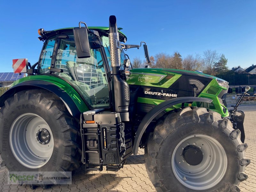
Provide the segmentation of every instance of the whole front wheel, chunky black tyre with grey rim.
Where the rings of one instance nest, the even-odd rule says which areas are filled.
[[[157,191],[240,191],[247,144],[220,114],[184,108],[168,114],[149,136],[146,169]]]

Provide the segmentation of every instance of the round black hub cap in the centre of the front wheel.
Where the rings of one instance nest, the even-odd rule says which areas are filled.
[[[203,152],[194,145],[188,145],[182,151],[182,156],[190,165],[198,165],[203,161]]]

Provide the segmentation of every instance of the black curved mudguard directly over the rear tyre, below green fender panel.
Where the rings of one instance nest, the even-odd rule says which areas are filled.
[[[45,89],[56,94],[63,101],[69,113],[78,119],[80,118],[80,114],[82,111],[80,111],[77,106],[79,102],[74,101],[74,98],[73,99],[71,98],[72,94],[65,92],[56,84],[53,84],[47,81],[41,81],[41,80],[25,81],[25,82],[14,85],[0,97],[0,107],[3,107],[4,101],[7,98],[12,97],[15,93],[23,90],[30,90],[35,88]],[[88,108],[84,108],[84,111],[86,110],[88,110]]]

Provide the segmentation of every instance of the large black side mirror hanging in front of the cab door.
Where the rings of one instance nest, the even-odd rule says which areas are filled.
[[[84,22],[79,22],[79,27],[73,29],[76,44],[76,54],[78,58],[88,58],[91,57],[87,34],[88,28],[85,23],[85,27],[81,27],[80,23]]]

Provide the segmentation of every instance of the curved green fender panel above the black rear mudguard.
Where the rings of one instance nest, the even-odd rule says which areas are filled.
[[[74,101],[74,103],[76,104],[76,107],[79,109],[81,113],[89,110],[88,106],[86,105],[84,100],[81,98],[81,96],[76,92],[76,90],[66,81],[64,81],[63,79],[57,76],[53,76],[53,75],[27,76],[13,82],[11,87],[25,81],[46,81],[46,82],[55,84],[60,89],[68,93],[68,95]]]

